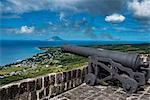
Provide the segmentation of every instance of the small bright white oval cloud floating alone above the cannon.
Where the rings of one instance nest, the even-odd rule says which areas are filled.
[[[125,20],[125,17],[120,14],[112,14],[110,16],[105,17],[106,22],[112,22],[112,23],[120,23]]]

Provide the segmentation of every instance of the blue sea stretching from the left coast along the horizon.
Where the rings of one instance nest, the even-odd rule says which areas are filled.
[[[100,45],[100,44],[141,44],[141,41],[38,41],[38,40],[0,40],[0,66],[12,64],[44,52],[38,47],[62,45]]]

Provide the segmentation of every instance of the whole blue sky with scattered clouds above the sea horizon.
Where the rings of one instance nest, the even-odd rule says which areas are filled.
[[[1,0],[1,40],[150,42],[150,0]]]

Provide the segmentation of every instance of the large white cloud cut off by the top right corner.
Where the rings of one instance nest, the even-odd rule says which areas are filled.
[[[133,11],[136,17],[150,18],[150,0],[133,0],[128,3],[128,8]]]

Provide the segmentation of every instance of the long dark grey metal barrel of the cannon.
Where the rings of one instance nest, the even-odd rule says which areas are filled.
[[[111,58],[113,61],[118,62],[133,70],[139,69],[142,66],[142,61],[139,54],[129,54],[118,51],[94,49],[89,47],[69,46],[64,45],[61,47],[62,52],[73,53],[84,57],[99,56]]]

